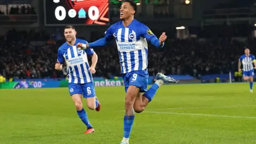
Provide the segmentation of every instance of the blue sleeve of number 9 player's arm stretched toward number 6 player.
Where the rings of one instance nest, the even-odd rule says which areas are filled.
[[[114,39],[114,26],[110,26],[106,31],[105,31],[105,37],[99,39],[98,41],[95,41],[93,43],[89,43],[90,47],[98,47],[98,46],[105,46],[108,45],[113,39]]]

